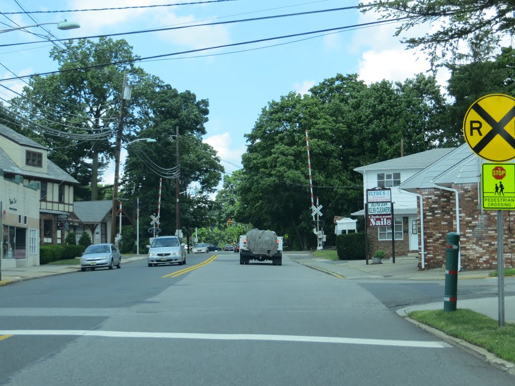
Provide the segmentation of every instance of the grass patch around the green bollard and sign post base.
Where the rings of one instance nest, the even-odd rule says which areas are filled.
[[[408,313],[409,317],[445,334],[483,347],[497,357],[515,363],[515,324],[499,322],[479,312],[458,309],[453,312],[443,310],[422,310]]]

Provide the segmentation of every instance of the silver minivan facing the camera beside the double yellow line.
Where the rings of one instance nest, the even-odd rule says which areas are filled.
[[[149,267],[160,264],[186,264],[186,245],[177,236],[156,237],[147,248]]]

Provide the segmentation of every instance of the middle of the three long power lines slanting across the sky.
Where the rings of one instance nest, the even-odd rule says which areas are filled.
[[[297,13],[286,13],[286,14],[281,14],[281,15],[271,15],[271,16],[263,16],[263,17],[252,17],[250,19],[229,20],[229,21],[225,21],[225,22],[183,25],[183,26],[178,26],[178,27],[146,29],[146,30],[131,31],[131,32],[118,32],[118,33],[110,33],[110,34],[105,34],[105,35],[85,36],[85,37],[80,37],[80,38],[75,38],[75,39],[96,39],[96,38],[102,38],[102,37],[132,35],[132,34],[136,34],[136,33],[172,31],[172,30],[176,30],[176,29],[193,28],[193,27],[207,27],[207,26],[221,25],[221,24],[246,23],[246,22],[255,22],[255,21],[260,21],[260,20],[278,19],[279,17],[302,16],[302,15],[308,15],[308,14],[313,14],[313,13],[335,12],[335,11],[349,10],[349,9],[355,9],[355,8],[357,8],[357,6],[321,9],[321,10],[316,10],[316,11],[306,11],[306,12],[297,12]],[[49,40],[49,41],[50,42],[63,42],[63,41],[68,41],[68,40],[70,40],[70,39],[56,39],[56,40]],[[7,46],[11,46],[11,45],[34,44],[34,43],[41,43],[41,41],[3,44],[3,45],[0,45],[0,47],[7,47]]]

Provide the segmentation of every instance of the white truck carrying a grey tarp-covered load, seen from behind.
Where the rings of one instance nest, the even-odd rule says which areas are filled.
[[[239,264],[250,260],[272,260],[274,266],[283,262],[283,238],[272,231],[253,229],[239,236]]]

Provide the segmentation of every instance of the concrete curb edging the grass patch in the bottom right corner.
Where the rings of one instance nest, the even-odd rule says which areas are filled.
[[[505,373],[515,377],[515,363],[509,362],[507,360],[501,359],[497,357],[495,354],[490,353],[483,347],[476,346],[472,343],[466,342],[462,339],[452,337],[450,335],[445,334],[445,332],[440,331],[434,327],[428,326],[426,324],[420,323],[415,319],[411,319],[406,314],[406,308],[402,308],[396,311],[396,313],[403,319],[407,320],[410,323],[415,324],[417,327],[423,329],[424,331],[429,332],[430,334],[436,336],[437,338],[452,344],[455,347],[458,347],[465,352],[473,355],[474,357],[489,363],[490,365],[496,367],[499,370],[504,371]]]

